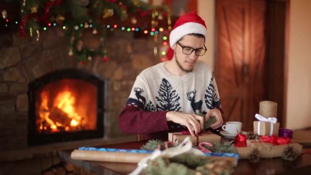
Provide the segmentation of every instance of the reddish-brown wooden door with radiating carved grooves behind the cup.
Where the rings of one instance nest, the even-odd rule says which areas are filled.
[[[227,121],[253,130],[265,99],[265,1],[216,1],[215,79]]]

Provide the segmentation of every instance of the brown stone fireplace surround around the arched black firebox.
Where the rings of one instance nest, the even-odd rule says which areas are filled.
[[[56,29],[42,31],[39,41],[36,41],[36,37],[20,38],[18,31],[0,35],[0,153],[32,150],[27,143],[28,83],[58,69],[82,69],[105,78],[107,111],[104,119],[105,136],[100,139],[100,143],[128,138],[118,128],[118,116],[136,76],[143,69],[160,62],[159,58],[153,56],[155,43],[152,37],[134,38],[131,32],[108,32],[108,61],[93,58],[81,65],[75,56],[68,55],[70,38],[60,36]],[[81,144],[99,143],[93,139]],[[61,149],[62,146],[46,147]],[[63,147],[71,146],[63,144]]]

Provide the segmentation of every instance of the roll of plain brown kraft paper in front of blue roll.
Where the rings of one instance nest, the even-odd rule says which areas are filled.
[[[134,152],[109,152],[109,151],[92,151],[75,149],[71,153],[72,159],[99,161],[99,162],[122,162],[138,163],[150,154]]]

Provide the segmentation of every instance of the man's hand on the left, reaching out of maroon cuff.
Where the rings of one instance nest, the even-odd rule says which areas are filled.
[[[166,120],[187,126],[192,136],[199,134],[204,127],[204,118],[195,114],[169,111],[166,113]]]

